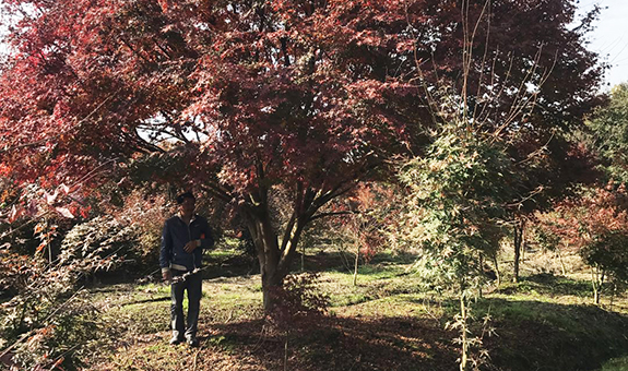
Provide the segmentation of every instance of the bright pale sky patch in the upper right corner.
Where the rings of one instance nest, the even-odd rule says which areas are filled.
[[[628,0],[580,0],[580,12],[602,7],[595,29],[589,36],[588,49],[597,52],[611,64],[606,72],[607,87],[628,83]]]

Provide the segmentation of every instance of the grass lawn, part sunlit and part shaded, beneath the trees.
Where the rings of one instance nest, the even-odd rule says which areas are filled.
[[[260,276],[229,249],[208,256],[200,349],[167,345],[168,286],[119,284],[91,292],[106,336],[84,359],[85,369],[283,369],[285,333],[263,320]],[[458,368],[457,334],[443,326],[458,309],[454,298],[423,290],[408,271],[408,255],[375,256],[360,266],[356,286],[343,259],[307,256],[306,266],[319,267],[318,287],[331,304],[328,315],[289,334],[289,370]],[[590,296],[586,282],[548,274],[486,292],[472,304],[472,335],[481,333],[486,313],[498,335],[483,339],[490,355],[486,370],[625,370],[628,300],[620,298],[623,306],[611,312],[591,306]]]

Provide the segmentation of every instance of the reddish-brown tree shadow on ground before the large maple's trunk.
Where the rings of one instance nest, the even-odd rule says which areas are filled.
[[[283,369],[285,333],[262,320],[217,324],[210,344],[258,358],[268,370]],[[408,318],[324,318],[288,338],[288,369],[454,370],[451,334],[434,321]]]

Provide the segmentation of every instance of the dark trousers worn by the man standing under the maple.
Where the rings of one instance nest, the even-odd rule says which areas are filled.
[[[170,285],[170,319],[173,336],[182,339],[197,336],[199,311],[201,307],[202,277],[197,272],[185,276],[186,272],[173,270],[173,284]],[[185,278],[182,278],[185,277]],[[188,325],[185,326],[183,291],[188,291]]]

